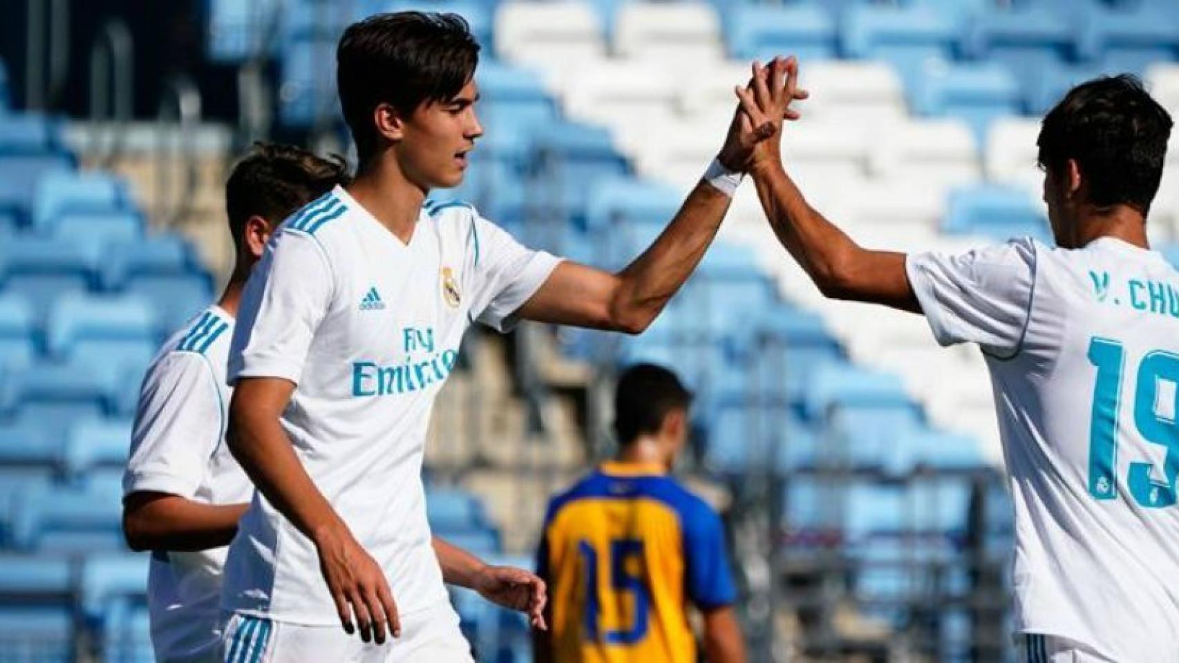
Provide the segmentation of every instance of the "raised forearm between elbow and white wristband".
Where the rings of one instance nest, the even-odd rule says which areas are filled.
[[[732,199],[699,181],[659,238],[621,272],[611,317],[626,331],[643,331],[700,263]]]

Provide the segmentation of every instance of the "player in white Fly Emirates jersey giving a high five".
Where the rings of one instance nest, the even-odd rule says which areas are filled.
[[[540,625],[542,583],[488,589],[477,559],[430,545],[422,446],[462,333],[518,319],[643,331],[772,130],[735,119],[704,180],[619,273],[561,261],[469,205],[423,206],[461,183],[482,133],[477,52],[461,18],[414,12],[340,42],[356,179],[271,238],[230,352],[228,442],[258,491],[226,563],[226,661],[469,661],[443,582],[513,591]]]

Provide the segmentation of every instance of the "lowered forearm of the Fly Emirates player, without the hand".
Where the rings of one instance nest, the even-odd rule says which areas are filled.
[[[258,491],[312,541],[347,531],[303,469],[278,418],[237,410],[231,407],[226,443]]]

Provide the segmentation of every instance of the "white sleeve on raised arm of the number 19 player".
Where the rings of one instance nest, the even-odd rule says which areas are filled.
[[[1030,316],[1035,264],[1036,246],[1027,238],[957,256],[913,254],[905,271],[937,343],[977,343],[1010,358]]]

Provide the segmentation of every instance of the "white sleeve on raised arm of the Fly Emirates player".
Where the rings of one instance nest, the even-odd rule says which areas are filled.
[[[470,316],[498,331],[511,329],[513,313],[540,290],[560,259],[523,247],[495,224],[474,216],[468,247],[474,259]]]

